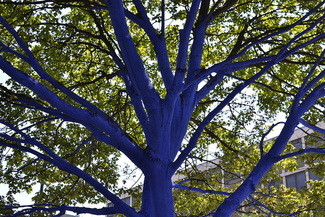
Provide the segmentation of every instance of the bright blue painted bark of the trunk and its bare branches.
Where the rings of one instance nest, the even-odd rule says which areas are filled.
[[[299,19],[297,22],[279,30],[276,33],[270,34],[254,43],[247,45],[238,54],[203,70],[201,69],[201,62],[204,51],[203,45],[206,30],[208,24],[212,22],[211,19],[216,16],[216,14],[204,13],[203,11],[206,5],[201,4],[201,10],[199,10],[201,1],[193,1],[184,28],[179,32],[180,40],[175,75],[173,75],[171,70],[165,38],[160,37],[156,33],[156,30],[153,28],[148,16],[146,15],[141,1],[134,2],[138,15],[126,11],[123,8],[122,1],[105,1],[107,5],[105,10],[107,10],[110,14],[112,25],[115,30],[115,37],[124,61],[123,64],[116,64],[121,68],[121,75],[125,82],[128,96],[131,97],[131,103],[134,106],[137,117],[144,130],[147,141],[146,149],[141,149],[137,144],[131,141],[126,133],[124,133],[117,123],[115,123],[105,112],[85,99],[79,97],[73,91],[64,87],[53,77],[47,74],[34,56],[32,56],[32,53],[28,50],[28,47],[19,38],[14,28],[12,28],[4,19],[0,17],[0,22],[13,35],[16,42],[19,44],[20,48],[24,50],[27,56],[24,56],[17,51],[4,46],[4,43],[1,44],[1,51],[10,52],[16,55],[18,58],[25,60],[27,64],[34,68],[42,79],[45,79],[52,84],[54,88],[60,90],[63,94],[70,97],[70,99],[87,109],[81,109],[69,104],[66,100],[60,98],[53,91],[39,83],[34,78],[31,78],[26,73],[16,69],[12,64],[8,63],[4,57],[1,56],[0,69],[20,85],[29,88],[35,94],[40,96],[40,98],[51,105],[53,109],[42,107],[42,105],[34,101],[23,100],[20,102],[35,108],[37,107],[40,111],[46,112],[49,115],[53,115],[57,118],[80,123],[89,129],[96,139],[112,145],[123,152],[143,171],[145,175],[142,209],[140,212],[137,212],[134,208],[123,203],[116,195],[104,188],[103,184],[95,180],[89,174],[77,168],[70,162],[60,158],[44,144],[41,144],[39,141],[36,141],[36,139],[24,134],[18,128],[0,120],[0,123],[6,125],[17,134],[21,135],[23,139],[13,138],[4,133],[0,133],[0,137],[4,138],[5,140],[11,140],[21,144],[33,144],[40,150],[43,150],[47,156],[44,156],[40,151],[25,147],[23,145],[13,145],[5,141],[0,141],[1,145],[29,152],[37,156],[39,159],[47,161],[63,171],[77,175],[89,183],[94,189],[96,189],[96,191],[100,192],[108,200],[114,203],[114,207],[103,209],[56,206],[51,209],[43,208],[44,210],[57,210],[61,211],[61,213],[64,213],[65,211],[76,211],[78,213],[92,214],[122,213],[126,216],[173,217],[175,216],[175,210],[172,189],[179,188],[189,191],[198,191],[201,193],[223,194],[229,196],[219,207],[215,207],[216,212],[213,216],[230,216],[244,200],[250,197],[250,195],[255,191],[258,181],[262,179],[262,177],[276,162],[308,152],[316,152],[321,154],[325,153],[325,151],[321,149],[309,148],[281,156],[281,152],[284,150],[298,124],[300,122],[307,123],[304,122],[301,117],[311,106],[316,103],[319,98],[325,96],[324,83],[321,83],[312,89],[312,87],[325,76],[325,71],[322,71],[314,78],[314,80],[309,80],[314,72],[313,69],[320,63],[320,60],[324,56],[324,51],[321,54],[321,57],[315,63],[314,68],[310,71],[310,74],[303,83],[303,86],[300,87],[300,90],[293,101],[290,114],[284,124],[281,134],[276,139],[270,151],[267,153],[264,153],[263,143],[261,143],[261,159],[234,193],[217,191],[208,192],[207,190],[184,187],[180,184],[173,185],[171,181],[172,175],[176,172],[176,170],[179,169],[179,167],[188,157],[189,153],[196,147],[203,131],[213,120],[213,118],[215,118],[216,115],[218,115],[222,109],[225,108],[225,106],[232,102],[247,86],[264,76],[272,67],[280,63],[280,61],[295,53],[300,48],[306,47],[307,45],[312,44],[314,41],[323,38],[325,34],[320,33],[313,39],[288,51],[288,48],[293,45],[297,39],[308,33],[318,23],[323,21],[325,19],[325,15],[320,17],[313,25],[306,28],[306,30],[290,40],[275,55],[241,61],[240,63],[233,62],[233,60],[242,57],[252,46],[262,43],[272,37],[278,36],[279,34],[301,24],[309,15],[314,13],[322,4],[324,4],[324,2],[322,2],[315,9],[311,10],[306,14],[306,16]],[[235,4],[236,1],[227,2],[234,2]],[[229,4],[227,3],[224,9],[232,6]],[[198,12],[198,19],[196,20],[195,18]],[[153,49],[157,56],[159,70],[164,80],[167,92],[164,99],[158,94],[158,91],[154,88],[154,85],[151,83],[146,73],[143,61],[137,51],[131,34],[129,33],[125,17],[133,20],[140,27],[142,27],[153,44]],[[193,42],[188,54],[189,39],[192,30]],[[238,84],[228,96],[225,96],[217,106],[211,109],[209,114],[205,116],[205,118],[200,122],[198,128],[194,131],[193,135],[188,141],[188,144],[186,144],[186,147],[177,156],[184,136],[186,135],[191,115],[198,103],[205,96],[207,96],[209,92],[225,78],[226,75],[241,69],[245,69],[249,65],[253,64],[261,64],[263,67],[261,67],[261,70],[256,72],[255,75]],[[199,83],[212,73],[215,73],[216,75],[214,75],[214,77],[198,91]],[[324,133],[324,131],[321,129],[314,128],[314,130],[319,130],[321,133]],[[35,210],[40,209],[42,208],[35,205],[31,210],[34,212]]]

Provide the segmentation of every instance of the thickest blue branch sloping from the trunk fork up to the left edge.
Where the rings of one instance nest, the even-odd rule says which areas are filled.
[[[24,85],[30,90],[34,91],[40,96],[42,100],[48,102],[50,105],[56,108],[58,111],[56,116],[59,117],[60,114],[70,116],[76,122],[83,122],[85,126],[88,127],[88,129],[89,127],[93,126],[93,129],[89,129],[90,131],[94,129],[100,129],[100,131],[108,134],[111,139],[115,141],[114,143],[118,144],[118,149],[125,153],[127,157],[133,159],[135,163],[140,163],[141,158],[139,158],[139,156],[143,154],[141,148],[138,145],[133,144],[112,119],[103,119],[103,117],[98,115],[98,113],[71,106],[66,101],[62,100],[57,95],[55,95],[48,88],[40,84],[37,80],[32,79],[27,74],[15,69],[5,59],[3,59],[3,57],[0,57],[0,63],[0,69],[6,72],[10,77],[12,77],[21,85]],[[30,101],[28,101],[28,103],[30,103]],[[39,107],[40,109],[42,108],[42,106],[40,106],[39,104],[35,104],[36,102],[32,103],[34,103],[36,107]],[[50,114],[51,113],[53,114],[53,110],[50,110]],[[134,153],[136,152],[138,154],[135,155]]]

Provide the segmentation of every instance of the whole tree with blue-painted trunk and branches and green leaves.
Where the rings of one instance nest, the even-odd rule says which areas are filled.
[[[316,127],[325,96],[324,3],[1,2],[0,69],[11,78],[0,86],[7,162],[0,181],[10,188],[2,212],[175,216],[173,188],[216,195],[202,216],[231,216],[245,201],[266,214],[322,212],[275,211],[254,193],[275,164],[325,153],[321,144],[288,145],[299,123],[324,133]],[[266,145],[280,111],[281,133]],[[220,168],[241,171],[241,184],[234,191],[173,184],[209,145],[218,147]],[[120,152],[144,174],[140,210],[113,194]],[[46,188],[34,205],[19,206],[14,195],[35,183]],[[105,200],[114,206],[74,206]]]

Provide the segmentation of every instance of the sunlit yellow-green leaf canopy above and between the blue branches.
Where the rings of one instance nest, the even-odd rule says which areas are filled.
[[[161,16],[161,1],[142,1],[154,29],[154,32],[150,33],[147,31],[149,27],[143,22],[146,17],[137,10],[137,2],[123,1],[128,29],[143,61],[146,74],[161,99],[165,99],[169,89],[164,82],[164,74],[170,69],[175,75],[178,70],[180,32],[190,13],[192,1],[166,1],[164,22]],[[182,147],[187,145],[187,141],[209,112],[239,83],[255,75],[268,63],[270,57],[276,55],[291,39],[323,15],[322,8],[299,25],[284,31],[318,4],[319,1],[280,0],[201,2],[196,22],[191,28],[186,52],[190,53],[195,46],[195,37],[199,37],[196,34],[204,26],[207,29],[203,36],[202,59],[199,61],[201,73],[232,57],[234,59],[231,63],[242,63],[230,69],[232,72],[225,70],[223,74],[216,68],[204,79],[189,85],[189,88],[196,90],[196,97],[199,100],[198,104],[193,106]],[[137,118],[125,85],[127,81],[122,77],[122,72],[128,70],[125,59],[103,1],[8,1],[0,3],[0,11],[1,16],[17,31],[40,66],[50,76],[106,113],[134,144],[142,149],[147,147],[148,137]],[[285,53],[295,51],[298,46],[323,33],[324,24],[324,21],[321,21],[291,44]],[[279,31],[282,33],[276,35],[275,33]],[[272,34],[273,36],[267,40],[250,46],[244,55],[236,57],[248,45]],[[154,37],[165,38],[169,66],[159,65],[157,50],[160,47],[156,47]],[[2,47],[8,46],[26,55],[4,26],[0,26],[0,40],[4,43]],[[268,128],[268,123],[272,122],[279,112],[289,113],[294,96],[307,76],[306,72],[311,70],[322,52],[323,43],[324,37],[320,37],[310,45],[296,50],[237,95],[212,119],[191,154],[202,158],[207,155],[208,145],[217,145],[218,152],[215,153],[215,157],[222,160],[223,170],[236,174],[245,168],[241,172],[248,174],[258,160],[254,157],[258,153],[256,145]],[[89,109],[55,88],[15,53],[1,51],[3,58],[37,79],[70,105]],[[187,56],[186,64],[189,64],[190,57]],[[246,60],[252,59],[263,60],[246,63]],[[322,59],[311,79],[323,70],[324,64]],[[187,71],[184,82],[193,77],[192,72],[188,70],[189,66],[185,68]],[[224,76],[219,82],[215,82],[218,79],[216,73]],[[322,82],[323,79],[320,79],[317,84]],[[205,84],[211,84],[213,88],[209,85],[204,86]],[[115,163],[120,153],[115,148],[96,139],[85,126],[47,114],[47,109],[51,111],[56,109],[14,80],[7,81],[6,86],[0,86],[1,120],[10,122],[20,129],[25,128],[23,130],[25,133],[100,180],[106,188],[116,188],[118,174]],[[206,88],[210,88],[209,91]],[[313,88],[310,89],[312,90]],[[184,90],[180,96],[185,96],[186,91],[189,90]],[[319,99],[319,105],[308,110],[304,116],[307,120],[316,123],[323,119],[323,100]],[[33,104],[30,104],[31,101]],[[36,109],[38,106],[35,105],[41,105],[42,110]],[[3,128],[3,132],[14,135],[8,128]],[[34,198],[37,203],[41,201],[83,203],[85,200],[97,203],[104,200],[77,176],[59,171],[56,167],[21,150],[8,151],[3,148],[1,157],[7,163],[3,165],[4,172],[0,181],[10,183],[11,189],[15,189],[7,197],[10,200],[12,194],[23,190],[30,191],[31,185],[36,183],[46,185],[44,192],[38,193]],[[236,164],[230,165],[229,162],[234,158]],[[30,165],[24,167],[26,164]],[[13,173],[15,170],[19,170],[18,173]],[[270,176],[274,178],[275,171],[272,170],[262,181],[266,182]],[[217,178],[210,181],[216,182]],[[58,193],[54,195],[52,192]],[[184,195],[183,199],[192,197],[186,193]],[[213,200],[219,202],[223,197],[214,197]],[[75,200],[71,201],[71,198]]]

